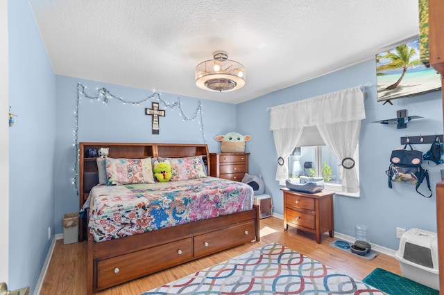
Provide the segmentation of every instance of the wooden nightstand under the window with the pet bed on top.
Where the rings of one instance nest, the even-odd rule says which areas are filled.
[[[321,193],[307,194],[281,188],[284,193],[284,230],[289,225],[302,231],[316,233],[316,242],[321,244],[321,235],[328,231],[333,238],[333,195],[323,190]]]

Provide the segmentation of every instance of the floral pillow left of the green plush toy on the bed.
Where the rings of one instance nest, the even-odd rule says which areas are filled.
[[[105,158],[108,186],[117,184],[153,184],[151,158],[113,159]]]

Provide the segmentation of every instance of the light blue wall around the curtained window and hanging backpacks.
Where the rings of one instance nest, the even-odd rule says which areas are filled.
[[[237,129],[240,133],[253,135],[253,140],[247,143],[247,150],[251,153],[250,174],[262,173],[266,191],[273,197],[274,212],[283,214],[281,186],[275,181],[278,156],[273,134],[268,130],[270,112],[266,111],[267,107],[367,83],[373,86],[366,90],[366,119],[361,122],[359,137],[361,197],[334,196],[334,231],[354,236],[355,225],[365,224],[370,242],[398,249],[397,226],[436,231],[436,198],[435,193],[430,199],[418,195],[415,187],[409,184],[393,184],[393,189],[388,188],[385,170],[389,165],[391,150],[401,146],[400,137],[443,133],[441,91],[392,100],[393,105],[382,105],[382,102],[377,102],[375,62],[371,59],[237,105]],[[407,129],[372,123],[396,118],[398,109],[407,109],[409,115],[424,118],[412,120]],[[425,152],[430,144],[413,147]],[[441,181],[440,169],[444,169],[444,166],[429,167],[427,161],[423,166],[429,170],[434,192],[436,182]],[[425,184],[422,186],[425,188]]]

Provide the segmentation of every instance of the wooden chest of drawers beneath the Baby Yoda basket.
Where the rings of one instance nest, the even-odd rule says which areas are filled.
[[[210,153],[210,176],[242,181],[248,173],[248,152]]]

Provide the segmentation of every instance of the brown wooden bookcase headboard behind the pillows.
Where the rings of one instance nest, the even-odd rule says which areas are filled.
[[[181,158],[203,156],[210,171],[210,154],[205,144],[187,143],[80,143],[79,145],[79,199],[80,208],[83,207],[92,186],[99,184],[99,172],[96,158],[87,156],[88,150],[109,147],[110,158],[143,159],[148,157]]]

